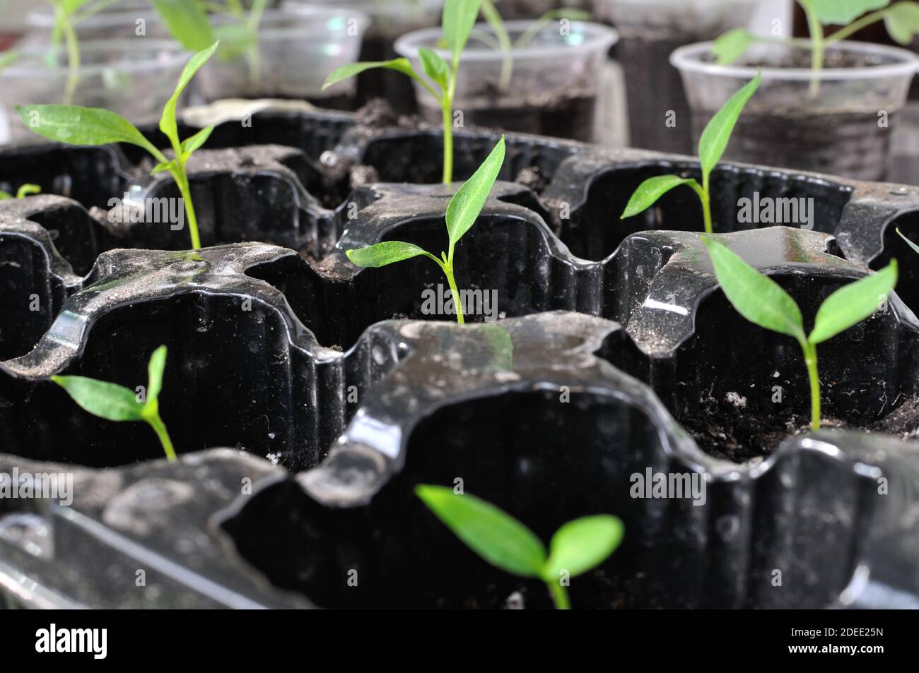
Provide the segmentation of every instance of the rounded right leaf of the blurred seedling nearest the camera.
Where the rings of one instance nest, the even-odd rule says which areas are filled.
[[[562,571],[574,578],[599,566],[616,551],[623,533],[622,522],[608,514],[585,516],[565,523],[552,535],[542,580],[557,582]]]

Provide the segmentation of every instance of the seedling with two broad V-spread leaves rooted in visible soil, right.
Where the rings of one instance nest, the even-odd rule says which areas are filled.
[[[766,330],[794,337],[804,353],[811,381],[811,428],[820,429],[820,378],[817,344],[832,339],[867,319],[883,306],[897,283],[897,261],[855,283],[840,287],[817,309],[813,330],[804,333],[800,308],[778,284],[760,274],[723,243],[708,236],[702,241],[725,297],[745,319]]]

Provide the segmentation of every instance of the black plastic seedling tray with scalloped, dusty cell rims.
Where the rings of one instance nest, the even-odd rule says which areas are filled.
[[[346,259],[446,236],[437,134],[363,121],[222,124],[189,163],[199,252],[187,231],[109,222],[129,190],[177,196],[132,149],[0,151],[0,189],[43,191],[0,202],[0,473],[74,475],[69,507],[0,499],[8,602],[548,607],[412,492],[460,478],[544,539],[584,514],[625,522],[574,607],[919,606],[919,262],[894,233],[915,235],[919,189],[713,175],[716,230],[806,322],[900,260],[887,308],[822,344],[829,427],[811,434],[800,349],[720,293],[693,195],[618,219],[643,179],[696,163],[508,136],[505,182],[457,253],[459,285],[496,290],[500,320],[459,327],[419,310],[433,264]],[[457,179],[495,140],[459,134]],[[754,192],[812,198],[813,229],[737,224]],[[161,343],[176,464],[48,380],[133,388]],[[646,470],[700,475],[704,502],[633,497]]]

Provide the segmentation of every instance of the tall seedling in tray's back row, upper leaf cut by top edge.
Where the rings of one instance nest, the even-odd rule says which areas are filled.
[[[418,50],[425,74],[434,82],[432,86],[425,80],[421,73],[416,73],[412,62],[408,59],[393,59],[392,61],[358,62],[350,63],[335,70],[323,84],[323,91],[333,84],[354,77],[359,73],[372,68],[389,68],[399,73],[407,74],[421,84],[425,91],[433,95],[440,104],[444,127],[444,171],[443,182],[453,182],[453,97],[456,95],[457,73],[459,72],[459,58],[466,47],[469,34],[479,16],[482,0],[447,0],[444,4],[444,13],[441,19],[441,28],[444,32],[444,43],[450,51],[450,62],[447,63],[437,51],[422,47]]]

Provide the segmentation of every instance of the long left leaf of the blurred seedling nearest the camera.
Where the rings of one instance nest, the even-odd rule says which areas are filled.
[[[546,548],[527,526],[491,503],[452,488],[419,484],[415,495],[476,554],[493,566],[539,578]]]

